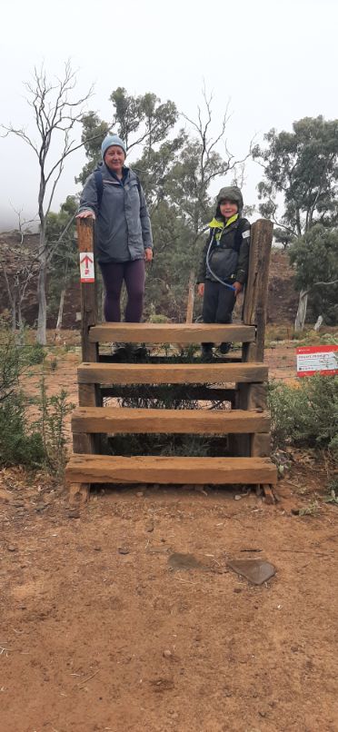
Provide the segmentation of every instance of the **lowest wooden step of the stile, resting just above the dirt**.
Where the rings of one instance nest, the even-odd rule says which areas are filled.
[[[68,483],[236,484],[275,483],[268,458],[164,458],[72,455]]]

